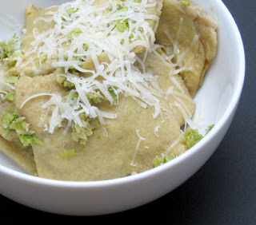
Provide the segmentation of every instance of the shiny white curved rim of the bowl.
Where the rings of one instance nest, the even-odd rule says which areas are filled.
[[[223,14],[226,14],[226,17],[229,20],[230,26],[232,26],[232,30],[234,31],[236,41],[238,43],[238,52],[239,54],[239,65],[238,65],[238,81],[237,88],[234,90],[234,94],[231,97],[229,105],[226,107],[225,112],[219,118],[218,123],[214,125],[211,132],[207,134],[198,144],[194,147],[190,148],[188,151],[182,153],[182,155],[178,156],[174,160],[167,162],[166,164],[162,164],[157,168],[151,168],[145,172],[141,172],[138,174],[134,174],[132,176],[126,176],[121,178],[115,178],[111,180],[94,180],[94,181],[69,181],[69,180],[50,180],[38,176],[33,176],[30,174],[26,174],[24,172],[18,172],[11,168],[6,168],[0,164],[0,174],[5,174],[6,176],[10,176],[13,179],[26,181],[27,183],[39,184],[49,187],[58,187],[58,188],[101,188],[101,187],[110,187],[116,184],[125,184],[138,180],[144,180],[149,176],[154,176],[158,174],[158,172],[165,171],[168,168],[172,168],[175,165],[179,164],[183,160],[188,159],[195,152],[198,152],[203,145],[210,142],[210,140],[218,134],[218,132],[222,129],[223,125],[226,124],[226,121],[229,120],[232,113],[234,113],[235,109],[238,106],[238,102],[240,100],[242,94],[242,88],[244,85],[245,75],[246,75],[246,56],[245,49],[242,41],[242,36],[238,29],[238,25],[235,22],[232,14],[227,9],[226,5],[222,2],[222,0],[218,0],[216,5],[222,10]]]

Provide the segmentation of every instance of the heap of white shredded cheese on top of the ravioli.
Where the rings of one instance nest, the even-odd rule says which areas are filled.
[[[34,24],[48,22],[54,27],[43,33],[33,30],[32,50],[26,53],[26,58],[33,61],[35,57],[46,54],[47,61],[52,61],[52,67],[64,69],[62,76],[74,84],[78,93],[76,101],[64,101],[59,97],[57,101],[55,95],[48,94],[50,101],[43,107],[56,106],[49,132],[60,126],[60,118],[81,124],[76,113],[78,108],[82,108],[80,113],[86,113],[90,118],[98,117],[101,124],[104,124],[105,117],[115,118],[116,115],[101,112],[91,105],[86,97],[87,93],[99,91],[113,105],[114,99],[108,91],[113,86],[117,88],[117,97],[122,93],[125,97],[134,98],[143,108],[148,105],[154,107],[154,118],[161,113],[159,97],[163,93],[157,85],[157,76],[134,66],[138,59],[134,51],[143,48],[149,52],[155,48],[150,22],[158,22],[159,18],[148,13],[150,7],[156,7],[155,4],[150,0],[141,3],[106,1],[98,6],[97,1],[77,0],[64,3],[57,10],[53,7],[47,10],[47,17],[34,21]],[[108,62],[99,61],[103,53],[107,55]],[[93,61],[95,69],[84,68],[87,60]],[[69,73],[70,68],[90,76],[73,76]],[[27,99],[22,107],[34,97]]]

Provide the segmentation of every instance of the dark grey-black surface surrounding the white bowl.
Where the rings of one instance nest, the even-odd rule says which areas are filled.
[[[207,1],[207,0],[205,0]],[[179,188],[145,206],[114,215],[71,217],[24,207],[0,195],[0,216],[9,222],[82,219],[123,223],[256,224],[256,1],[223,0],[238,23],[246,50],[246,81],[233,123],[210,160]],[[65,196],[64,196],[65,197]],[[37,219],[34,219],[36,216]],[[142,222],[139,222],[142,219]],[[59,221],[60,222],[60,221]]]

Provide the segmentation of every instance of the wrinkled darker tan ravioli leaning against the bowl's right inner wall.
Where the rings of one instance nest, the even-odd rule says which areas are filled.
[[[199,6],[164,0],[157,43],[174,54],[176,68],[194,97],[217,49],[217,22]]]

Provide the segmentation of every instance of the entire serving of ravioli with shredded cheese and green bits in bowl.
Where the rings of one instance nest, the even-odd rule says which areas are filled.
[[[34,176],[109,180],[186,152],[217,22],[190,1],[28,6],[1,42],[1,150]]]

